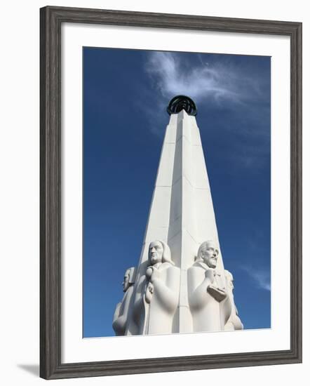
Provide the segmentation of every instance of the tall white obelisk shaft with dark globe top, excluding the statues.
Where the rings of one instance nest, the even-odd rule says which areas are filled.
[[[167,333],[193,331],[187,272],[194,264],[198,248],[203,241],[212,240],[217,244],[217,272],[220,272],[222,278],[225,277],[208,173],[196,124],[196,106],[190,98],[178,95],[171,100],[168,114],[170,121],[163,141],[140,262],[137,266],[126,335],[149,331],[144,328],[143,332],[137,332],[133,308],[139,296],[143,296],[144,290],[139,289],[138,284],[149,266],[149,245],[152,241],[161,240],[168,244],[171,260],[180,272],[180,280],[177,282],[177,308],[171,331],[166,331]],[[152,302],[147,305],[144,300],[144,324],[149,323],[149,310],[145,311],[147,307],[152,307]],[[161,323],[161,320],[158,322]]]

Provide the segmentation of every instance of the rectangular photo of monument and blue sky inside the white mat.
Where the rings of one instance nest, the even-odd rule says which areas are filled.
[[[271,57],[82,55],[83,338],[272,328]]]

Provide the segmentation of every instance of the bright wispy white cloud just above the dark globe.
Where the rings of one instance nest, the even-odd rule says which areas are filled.
[[[146,71],[166,98],[185,94],[195,100],[241,103],[254,94],[260,95],[260,84],[228,62],[210,65],[199,58],[196,65],[189,66],[180,54],[154,51],[149,53]]]

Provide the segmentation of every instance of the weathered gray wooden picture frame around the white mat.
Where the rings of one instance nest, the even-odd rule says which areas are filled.
[[[193,15],[41,8],[40,375],[46,379],[155,373],[302,361],[302,23]],[[61,363],[61,25],[62,22],[290,36],[290,350]]]

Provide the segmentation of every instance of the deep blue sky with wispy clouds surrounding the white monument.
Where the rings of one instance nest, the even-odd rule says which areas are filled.
[[[224,266],[245,328],[270,319],[270,58],[83,48],[83,336],[111,336],[177,94],[196,102]]]

